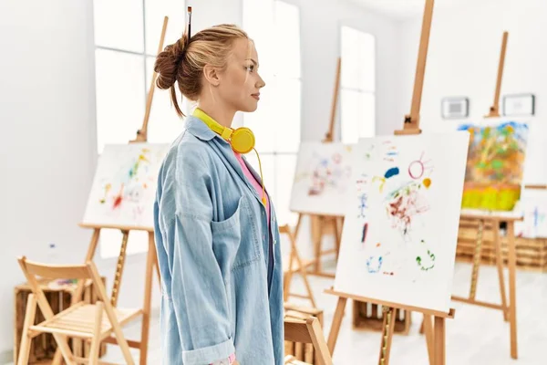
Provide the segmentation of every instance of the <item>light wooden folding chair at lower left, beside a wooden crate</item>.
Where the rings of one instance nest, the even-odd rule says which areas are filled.
[[[134,360],[129,353],[128,341],[124,338],[121,328],[130,321],[142,315],[142,309],[113,308],[103,283],[98,275],[97,266],[91,261],[85,265],[75,266],[48,266],[26,260],[26,257],[18,258],[19,265],[26,276],[32,294],[28,296],[26,304],[25,322],[21,339],[21,349],[17,365],[26,365],[30,353],[30,345],[33,338],[40,333],[50,333],[57,342],[57,353],[54,364],[60,361],[61,353],[67,365],[85,363],[90,365],[106,364],[98,360],[100,343],[118,344],[125,359],[125,363],[134,365]],[[46,296],[39,287],[36,276],[91,280],[97,288],[98,301],[96,304],[86,304],[82,301],[74,303],[69,308],[54,315]],[[83,286],[77,287],[75,297],[81,297]],[[81,299],[80,299],[81,300]],[[36,305],[42,311],[43,322],[33,325],[36,316]],[[114,334],[114,338],[110,336]],[[89,358],[83,359],[74,356],[68,347],[67,338],[85,339],[90,341]]]

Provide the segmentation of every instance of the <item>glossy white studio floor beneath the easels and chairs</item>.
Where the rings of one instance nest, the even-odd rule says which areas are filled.
[[[470,284],[470,265],[457,264],[454,294],[467,297]],[[497,272],[493,267],[480,269],[477,298],[499,301]],[[507,277],[507,274],[506,274]],[[325,310],[325,333],[328,334],[335,311],[336,298],[323,294],[332,279],[311,277],[317,304]],[[295,289],[302,283],[296,276]],[[545,365],[547,364],[547,274],[519,271],[517,274],[517,318],[519,322],[519,360],[511,360],[509,324],[501,312],[462,303],[454,303],[456,318],[447,322],[447,365]],[[298,303],[298,299],[294,300]],[[377,364],[380,338],[377,332],[356,331],[351,328],[351,304],[348,303],[340,337],[334,354],[335,364]],[[421,317],[413,315],[408,336],[393,339],[392,365],[428,364],[425,339],[419,335]],[[158,313],[150,328],[150,365],[160,364],[160,325]],[[140,326],[126,330],[127,336],[138,339]],[[139,358],[139,351],[134,351]],[[119,349],[109,346],[105,361],[123,363]],[[259,365],[259,364],[257,364]],[[260,364],[262,365],[262,364]],[[268,365],[268,364],[264,364]]]

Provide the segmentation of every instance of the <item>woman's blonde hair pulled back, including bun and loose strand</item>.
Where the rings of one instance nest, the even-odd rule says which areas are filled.
[[[188,38],[184,33],[177,42],[164,48],[156,57],[154,71],[158,73],[156,86],[170,89],[170,97],[180,117],[184,114],[179,107],[175,82],[181,94],[190,100],[197,100],[201,94],[201,76],[205,65],[225,69],[232,53],[233,41],[249,36],[238,26],[222,24],[203,29]]]

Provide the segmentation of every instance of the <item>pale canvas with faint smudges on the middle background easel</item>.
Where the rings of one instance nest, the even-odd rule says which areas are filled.
[[[345,214],[350,186],[352,147],[343,143],[304,141],[300,145],[290,209],[296,213]]]

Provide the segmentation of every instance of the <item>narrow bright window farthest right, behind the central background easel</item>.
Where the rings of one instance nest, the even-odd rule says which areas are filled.
[[[375,37],[342,26],[341,48],[341,136],[344,143],[356,143],[376,134]]]

